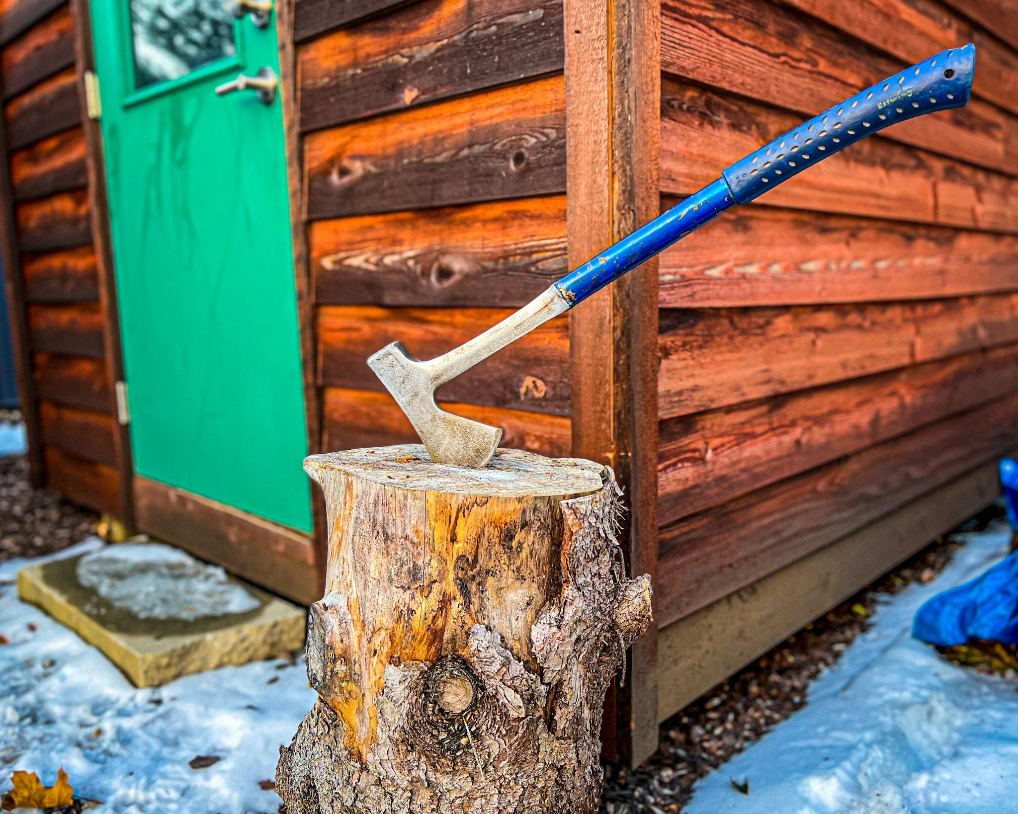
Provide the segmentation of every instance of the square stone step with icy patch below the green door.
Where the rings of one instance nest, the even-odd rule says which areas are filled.
[[[135,554],[123,547],[131,545],[136,543],[105,546],[100,554]],[[155,687],[192,673],[272,658],[303,646],[306,614],[302,607],[229,575],[222,577],[228,582],[224,586],[228,593],[214,593],[215,606],[208,607],[207,615],[200,608],[195,616],[190,601],[197,593],[195,582],[174,578],[179,574],[168,574],[167,564],[171,572],[182,567],[199,572],[199,584],[207,585],[210,575],[200,573],[204,564],[193,561],[196,569],[182,566],[176,556],[182,551],[158,547],[163,550],[152,558],[154,573],[147,589],[159,595],[154,596],[149,609],[137,601],[122,601],[125,591],[118,592],[111,584],[111,580],[124,578],[145,585],[139,563],[146,558],[140,556],[113,558],[128,561],[130,567],[124,568],[120,562],[119,568],[110,570],[109,579],[102,581],[94,578],[97,553],[27,566],[17,574],[18,596],[98,647],[136,687]],[[168,557],[166,549],[173,556]],[[87,557],[93,561],[82,569],[81,561]],[[82,584],[79,573],[86,575],[88,584]],[[211,578],[215,581],[219,577],[213,573]],[[176,599],[167,601],[166,593],[174,592],[179,594]],[[240,601],[238,592],[242,593]],[[224,595],[230,597],[225,603]],[[166,609],[174,607],[180,612]],[[230,613],[238,607],[246,609]]]

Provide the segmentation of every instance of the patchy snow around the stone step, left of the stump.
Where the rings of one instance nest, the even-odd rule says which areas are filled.
[[[100,545],[87,540],[56,557]],[[276,793],[259,782],[273,778],[280,745],[315,702],[302,659],[135,689],[76,634],[17,599],[23,565],[0,563],[0,634],[9,639],[0,646],[0,792],[14,770],[52,783],[63,766],[75,794],[104,801],[108,814],[277,812]],[[190,768],[199,755],[222,759]]]

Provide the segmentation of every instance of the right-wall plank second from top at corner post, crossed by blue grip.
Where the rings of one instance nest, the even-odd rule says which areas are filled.
[[[775,108],[678,81],[665,81],[662,97],[661,186],[672,194],[695,191],[799,123]],[[757,201],[1018,232],[1018,180],[880,137],[819,162]]]

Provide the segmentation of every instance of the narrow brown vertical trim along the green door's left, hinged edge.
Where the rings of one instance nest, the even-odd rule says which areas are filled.
[[[86,171],[89,185],[92,241],[96,247],[96,267],[99,276],[99,305],[103,314],[103,347],[106,350],[106,380],[110,393],[116,392],[117,382],[124,381],[123,355],[120,349],[120,316],[117,310],[117,287],[113,267],[113,244],[110,236],[110,210],[106,199],[106,165],[103,158],[103,133],[98,120],[89,118],[86,72],[96,68],[92,46],[92,17],[89,0],[70,0],[74,20],[74,62],[77,68],[77,96],[81,110],[81,130],[84,133]],[[115,415],[117,431],[113,435],[116,447],[117,473],[120,477],[120,519],[134,524],[133,476],[134,466],[130,451],[130,432],[127,424]]]

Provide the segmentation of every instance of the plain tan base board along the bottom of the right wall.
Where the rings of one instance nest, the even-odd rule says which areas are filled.
[[[996,461],[658,633],[658,719],[826,614],[1000,493]]]

